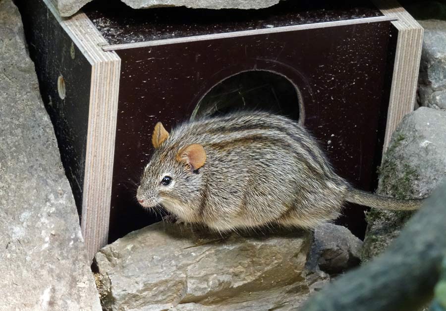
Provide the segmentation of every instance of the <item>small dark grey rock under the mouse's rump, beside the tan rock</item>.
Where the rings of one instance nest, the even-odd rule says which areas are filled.
[[[339,274],[361,262],[362,241],[343,226],[326,223],[314,231],[311,246],[312,269],[317,264],[329,274]]]

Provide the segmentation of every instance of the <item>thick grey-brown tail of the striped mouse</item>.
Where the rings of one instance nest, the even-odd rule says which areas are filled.
[[[398,200],[358,189],[349,188],[345,201],[379,209],[415,210],[422,206],[424,199]]]

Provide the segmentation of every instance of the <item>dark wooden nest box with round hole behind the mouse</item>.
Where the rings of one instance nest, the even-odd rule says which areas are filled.
[[[423,29],[391,1],[307,2],[213,11],[94,1],[67,19],[50,0],[22,5],[90,258],[157,220],[135,192],[158,121],[169,130],[209,109],[283,113],[342,177],[374,190],[382,152],[413,110]]]

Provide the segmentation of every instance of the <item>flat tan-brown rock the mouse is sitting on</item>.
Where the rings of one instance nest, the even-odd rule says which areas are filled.
[[[324,277],[305,269],[309,232],[232,234],[156,223],[96,254],[105,310],[291,310]]]

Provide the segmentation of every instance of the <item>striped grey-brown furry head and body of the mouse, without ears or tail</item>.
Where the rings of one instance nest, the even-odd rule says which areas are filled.
[[[191,144],[206,151],[198,171],[175,160]],[[163,186],[167,175],[172,182]],[[347,189],[300,125],[239,112],[176,127],[145,167],[137,198],[219,231],[271,223],[314,228],[338,216]]]

